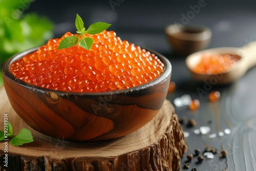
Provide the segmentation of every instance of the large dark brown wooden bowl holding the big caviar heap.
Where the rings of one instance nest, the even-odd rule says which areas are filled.
[[[14,55],[3,66],[4,86],[15,112],[34,130],[72,141],[102,141],[132,133],[155,117],[170,82],[172,66],[155,80],[131,89],[102,93],[74,93],[40,88],[14,77],[9,66],[38,49]]]

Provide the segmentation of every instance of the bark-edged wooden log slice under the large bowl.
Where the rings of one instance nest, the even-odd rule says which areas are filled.
[[[5,145],[0,143],[0,170],[178,170],[187,150],[178,116],[168,100],[141,129],[114,140],[83,143],[32,130],[14,112],[4,88],[0,99],[0,130],[4,129],[4,113],[8,113],[14,134],[25,127],[34,138],[22,146],[8,144],[8,168],[4,166]]]

